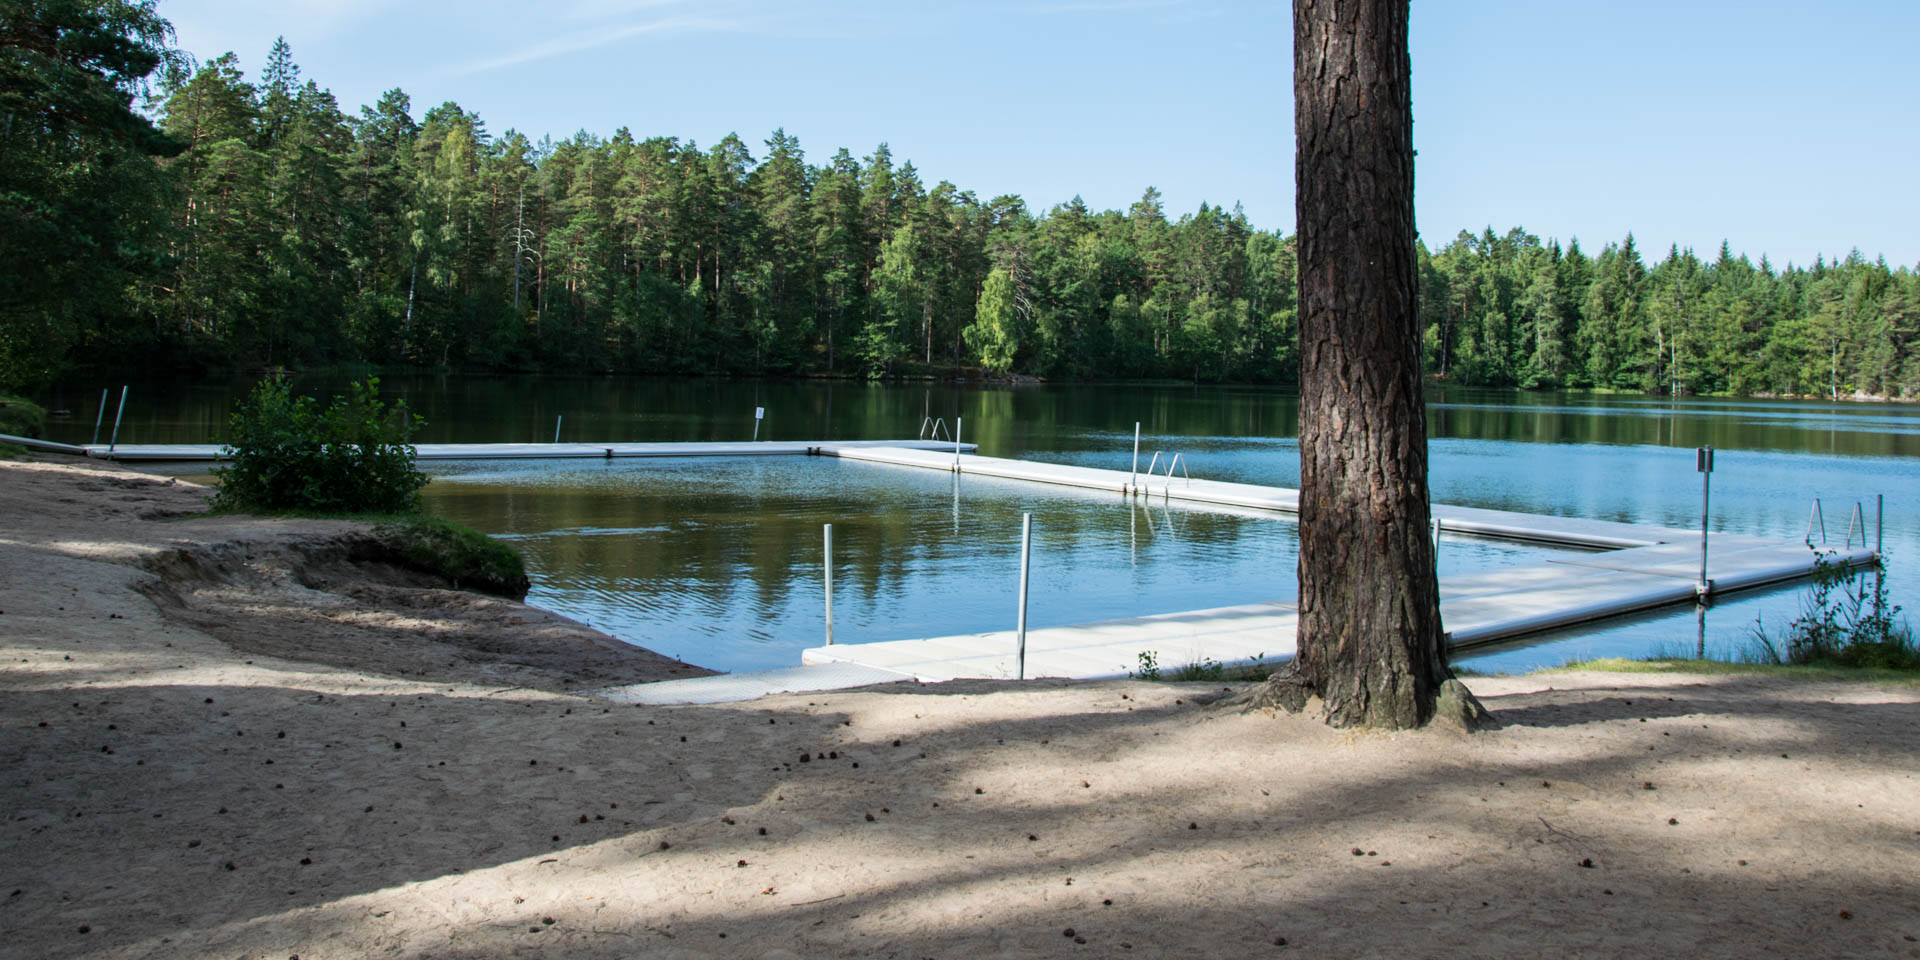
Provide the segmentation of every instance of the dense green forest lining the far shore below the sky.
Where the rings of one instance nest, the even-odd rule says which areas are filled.
[[[1296,376],[1292,238],[1238,207],[1029,209],[785,131],[532,140],[401,90],[355,111],[286,42],[252,75],[194,63],[152,0],[8,4],[0,46],[0,388],[75,365]],[[1430,242],[1434,376],[1920,396],[1912,267]]]

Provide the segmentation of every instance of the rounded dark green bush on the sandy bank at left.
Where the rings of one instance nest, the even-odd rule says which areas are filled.
[[[419,417],[378,399],[378,378],[321,407],[280,376],[261,380],[228,420],[230,465],[215,507],[236,511],[415,513],[426,474],[413,467]]]

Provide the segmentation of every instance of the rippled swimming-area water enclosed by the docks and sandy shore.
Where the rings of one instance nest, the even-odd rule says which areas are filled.
[[[839,641],[1012,628],[1025,511],[1035,628],[1294,597],[1296,526],[1252,511],[831,457],[436,470],[436,513],[509,526],[532,603],[726,670],[793,666],[822,641],[828,522]],[[1551,553],[1452,540],[1440,563],[1455,572]]]

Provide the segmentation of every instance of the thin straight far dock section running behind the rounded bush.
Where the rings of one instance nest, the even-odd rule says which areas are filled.
[[[753,442],[659,442],[659,444],[415,444],[420,461],[612,461],[626,457],[804,457],[889,447],[902,451],[941,449],[952,457],[954,444],[943,440],[753,440]],[[977,449],[958,444],[962,453]],[[65,447],[109,461],[221,461],[230,457],[223,444],[83,444]]]

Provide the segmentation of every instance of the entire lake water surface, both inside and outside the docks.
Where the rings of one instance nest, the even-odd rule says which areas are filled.
[[[309,392],[338,382],[301,382]],[[246,384],[134,384],[123,442],[207,442]],[[1296,399],[1283,390],[1188,386],[870,386],[616,378],[388,378],[428,419],[422,442],[762,440],[918,436],[952,426],[981,453],[1127,468],[1181,453],[1194,476],[1296,486]],[[117,390],[115,390],[117,397]],[[90,438],[98,386],[42,397]],[[108,411],[111,424],[113,411]],[[1814,497],[1828,536],[1885,493],[1887,588],[1914,609],[1920,580],[1920,407],[1761,399],[1651,399],[1436,388],[1432,492],[1442,503],[1693,528],[1693,447],[1713,444],[1715,530],[1799,538]],[[1020,515],[1035,515],[1033,626],[1292,599],[1284,516],[1139,505],[1117,495],[824,457],[492,461],[432,465],[428,509],[513,540],[530,603],[691,662],[793,666],[822,637],[820,524],[835,532],[839,641],[1008,630]],[[1551,551],[1448,538],[1442,572],[1538,563]],[[1736,653],[1755,618],[1784,624],[1801,586],[1736,593],[1463,651],[1476,670],[1574,657]],[[1179,651],[1162,651],[1179,662]]]

